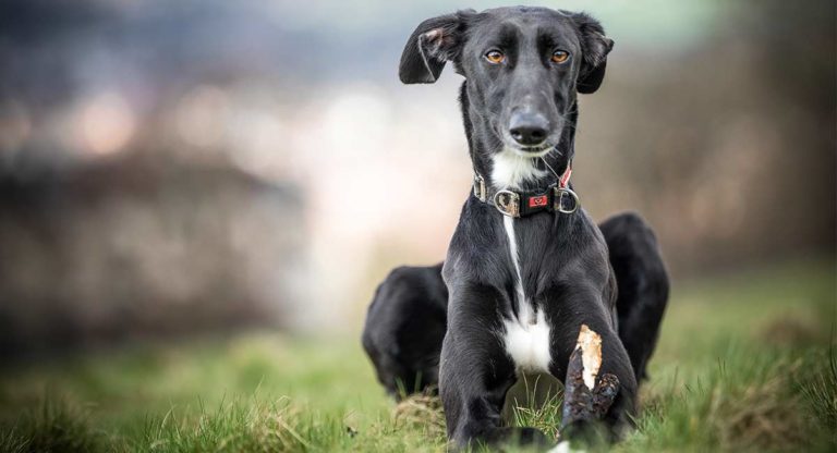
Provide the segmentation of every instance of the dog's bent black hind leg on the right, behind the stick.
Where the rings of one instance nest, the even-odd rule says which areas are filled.
[[[647,377],[645,366],[659,335],[668,302],[668,274],[654,232],[640,216],[617,215],[602,222],[599,229],[616,273],[619,338],[639,382]]]

